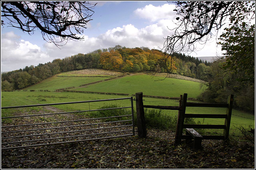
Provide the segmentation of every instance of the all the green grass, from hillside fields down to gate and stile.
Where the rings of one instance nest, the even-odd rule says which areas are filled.
[[[96,82],[106,78],[94,77],[57,77],[53,76],[34,86],[26,88],[26,90],[56,90],[58,88],[78,87],[81,84]],[[166,78],[165,80],[155,81],[162,79],[162,77],[152,77],[149,75],[134,75],[125,76],[114,80],[104,81],[97,84],[92,84],[86,88],[77,88],[79,91],[95,91],[95,92],[114,92],[114,93],[128,93],[135,94],[136,92],[143,92],[145,95],[153,96],[169,96],[179,97],[180,94],[188,93],[188,98],[196,98],[201,92],[200,83],[188,80],[180,80],[174,78]],[[23,106],[32,104],[52,104],[62,102],[77,102],[87,100],[101,100],[110,98],[126,98],[130,96],[117,96],[117,95],[100,95],[100,94],[84,94],[72,92],[2,92],[1,93],[1,106]],[[177,100],[166,100],[159,98],[144,98],[144,105],[159,105],[159,106],[178,106]],[[193,101],[188,101],[193,102]],[[84,104],[71,104],[71,105],[56,105],[59,109],[64,111],[80,111],[90,109],[98,109],[104,105],[117,104],[118,106],[130,106],[130,100],[118,100],[111,102],[90,102]],[[135,107],[135,102],[134,102]],[[39,107],[39,110],[42,107]],[[12,111],[7,109],[1,110],[2,116],[15,115],[17,109]],[[19,110],[22,114],[26,114],[25,110]],[[24,112],[24,113],[23,113]],[[225,108],[211,108],[211,107],[187,107],[186,113],[211,113],[211,114],[225,114]],[[88,112],[87,112],[88,113]],[[178,111],[163,110],[163,114],[177,115]],[[224,119],[195,119],[196,122],[200,121],[201,124],[224,124]],[[248,127],[254,126],[254,115],[244,113],[238,110],[232,110],[231,118],[231,133],[237,129],[236,126],[242,125]]]

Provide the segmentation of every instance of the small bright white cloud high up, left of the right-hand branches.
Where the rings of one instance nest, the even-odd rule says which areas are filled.
[[[135,10],[134,14],[152,22],[162,19],[172,20],[176,16],[176,12],[173,11],[174,9],[175,5],[173,4],[164,4],[162,6],[153,6],[152,4],[149,4],[144,8]]]

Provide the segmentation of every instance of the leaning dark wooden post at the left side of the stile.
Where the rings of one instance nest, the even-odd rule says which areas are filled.
[[[184,115],[186,111],[186,103],[187,103],[188,94],[184,93],[182,97],[182,103],[181,103],[181,110],[180,110],[180,126],[178,129],[178,142],[177,144],[181,143],[181,137],[182,137],[182,130],[184,125]]]

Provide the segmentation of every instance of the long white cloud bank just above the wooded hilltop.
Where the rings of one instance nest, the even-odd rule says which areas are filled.
[[[165,36],[162,29],[157,24],[149,25],[138,29],[132,24],[123,25],[109,29],[98,37],[84,36],[84,41],[68,41],[68,43],[58,49],[54,44],[45,43],[44,48],[49,54],[50,59],[70,57],[78,53],[89,53],[96,49],[114,47],[121,45],[125,47],[149,47],[159,49],[163,45]]]

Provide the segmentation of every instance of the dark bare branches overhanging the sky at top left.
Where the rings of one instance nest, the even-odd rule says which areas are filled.
[[[95,5],[85,1],[1,1],[1,16],[10,27],[28,34],[40,29],[45,41],[63,45],[70,39],[84,39],[79,34],[92,20]]]

